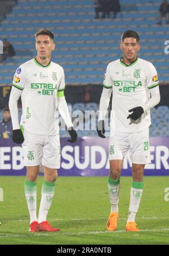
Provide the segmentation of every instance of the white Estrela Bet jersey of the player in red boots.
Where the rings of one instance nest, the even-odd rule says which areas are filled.
[[[16,70],[12,86],[23,90],[21,126],[30,134],[59,134],[57,93],[65,89],[63,67],[31,59]]]

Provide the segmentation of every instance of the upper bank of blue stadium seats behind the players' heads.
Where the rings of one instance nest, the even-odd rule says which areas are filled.
[[[167,82],[164,41],[169,32],[168,25],[156,24],[159,4],[159,0],[121,0],[122,16],[95,20],[91,0],[19,0],[0,27],[0,37],[7,37],[16,50],[16,57],[0,63],[0,86],[11,84],[17,67],[35,56],[34,33],[42,27],[55,33],[57,49],[53,60],[64,67],[68,84],[101,84],[106,65],[121,57],[121,33],[129,28],[140,33],[141,58],[153,61],[159,79]]]

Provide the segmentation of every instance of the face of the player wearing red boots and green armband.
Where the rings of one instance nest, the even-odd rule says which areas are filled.
[[[47,35],[37,36],[35,46],[37,56],[41,59],[50,58],[52,51],[55,49],[54,41]]]

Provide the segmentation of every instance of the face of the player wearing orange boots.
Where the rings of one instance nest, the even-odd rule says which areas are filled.
[[[140,50],[139,42],[133,37],[128,37],[124,39],[124,41],[121,43],[121,50],[123,52],[123,57],[127,61],[135,61],[137,57],[137,52]]]

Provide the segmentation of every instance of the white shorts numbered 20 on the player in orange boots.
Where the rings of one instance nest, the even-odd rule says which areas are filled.
[[[123,160],[129,151],[133,164],[149,164],[149,128],[139,133],[115,133],[109,140],[109,160]]]

